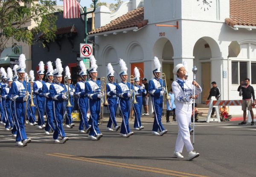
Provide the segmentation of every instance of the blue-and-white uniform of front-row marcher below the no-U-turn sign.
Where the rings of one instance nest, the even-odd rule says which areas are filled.
[[[89,98],[88,107],[90,112],[89,124],[91,126],[89,135],[97,136],[100,134],[98,127],[98,120],[100,115],[100,107],[101,107],[101,99],[98,98],[98,94],[100,94],[100,81],[93,81],[90,79],[85,82],[85,92],[86,96]]]

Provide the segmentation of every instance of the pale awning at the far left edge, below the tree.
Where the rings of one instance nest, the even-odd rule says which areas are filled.
[[[12,51],[11,47],[5,48],[3,50],[3,52],[1,53],[1,56],[0,56],[0,65],[10,65],[10,59],[17,59],[17,58],[19,58],[22,49],[21,49],[21,46],[19,46],[18,48],[19,48],[19,51],[20,51],[20,53],[18,53],[18,54],[15,54]]]

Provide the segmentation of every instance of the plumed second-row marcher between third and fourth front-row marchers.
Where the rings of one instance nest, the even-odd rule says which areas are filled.
[[[116,83],[114,76],[114,69],[111,63],[108,63],[108,81],[109,83],[106,85],[106,92],[108,97],[108,111],[109,111],[109,120],[107,125],[108,131],[113,131],[111,126],[113,124],[115,131],[120,129],[121,126],[116,124],[116,108],[117,108],[117,98],[116,98]]]

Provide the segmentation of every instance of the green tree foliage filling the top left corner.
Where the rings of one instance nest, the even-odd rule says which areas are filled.
[[[57,17],[54,16],[56,0],[0,0],[0,53],[12,42],[32,45],[38,34],[45,42],[54,40]],[[28,28],[31,23],[35,27]]]

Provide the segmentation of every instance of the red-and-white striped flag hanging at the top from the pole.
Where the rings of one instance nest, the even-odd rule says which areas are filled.
[[[76,0],[63,0],[63,17],[80,18],[79,3]]]

